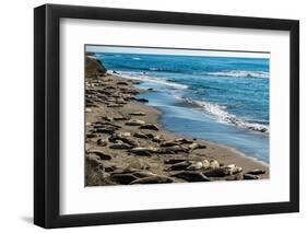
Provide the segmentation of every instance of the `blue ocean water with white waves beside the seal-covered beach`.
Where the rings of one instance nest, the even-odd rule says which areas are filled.
[[[141,80],[170,131],[269,163],[269,59],[96,53],[108,70]]]

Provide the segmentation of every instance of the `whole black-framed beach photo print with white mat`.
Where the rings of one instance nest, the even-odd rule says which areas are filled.
[[[34,15],[35,224],[298,211],[298,21]]]

